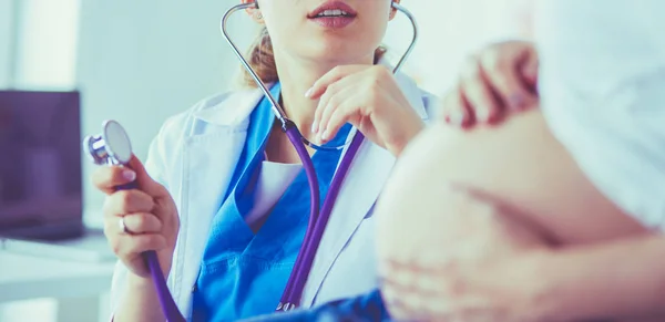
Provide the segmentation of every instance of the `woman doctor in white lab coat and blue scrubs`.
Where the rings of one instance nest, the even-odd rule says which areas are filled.
[[[433,97],[379,64],[395,15],[389,0],[286,2],[260,1],[260,10],[248,11],[265,25],[250,62],[308,139],[342,144],[354,135],[348,123],[367,137],[305,285],[300,305],[308,308],[377,288],[372,206]],[[484,79],[469,87],[490,86]],[[497,92],[518,91],[525,90]],[[256,89],[209,97],[164,124],[145,167],[134,158],[131,169],[95,173],[108,195],[105,233],[120,258],[115,322],[164,321],[140,256],[147,250],[157,251],[188,320],[235,321],[276,309],[306,231],[309,193],[274,118]],[[309,153],[325,196],[344,152]],[[115,191],[132,180],[139,189]]]

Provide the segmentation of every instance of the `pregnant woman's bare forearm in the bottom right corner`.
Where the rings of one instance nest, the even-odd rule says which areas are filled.
[[[541,257],[546,318],[665,321],[665,237],[646,235]],[[550,321],[546,319],[546,321]]]

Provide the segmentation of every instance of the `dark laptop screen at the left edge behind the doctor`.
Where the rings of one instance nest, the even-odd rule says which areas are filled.
[[[0,233],[82,225],[80,94],[0,91]]]

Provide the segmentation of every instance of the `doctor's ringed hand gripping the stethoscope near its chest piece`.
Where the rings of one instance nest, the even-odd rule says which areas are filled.
[[[100,167],[93,184],[106,194],[104,235],[125,267],[140,278],[150,278],[142,252],[157,252],[164,274],[171,269],[178,231],[178,216],[168,191],[153,180],[132,156],[129,167]],[[136,181],[137,189],[115,187]]]

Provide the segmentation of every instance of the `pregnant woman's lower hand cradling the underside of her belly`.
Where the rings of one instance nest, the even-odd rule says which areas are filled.
[[[542,321],[546,278],[539,264],[549,251],[545,239],[471,190],[449,187],[440,205],[436,218],[396,227],[418,229],[418,236],[382,240],[388,245],[380,250],[381,291],[390,315],[397,321]],[[405,242],[411,245],[399,245]]]

